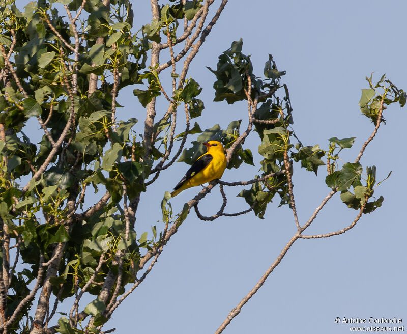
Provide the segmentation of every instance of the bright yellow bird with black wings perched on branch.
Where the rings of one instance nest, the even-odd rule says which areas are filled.
[[[171,196],[177,196],[181,191],[220,179],[226,168],[226,157],[222,143],[218,141],[209,141],[202,143],[208,149],[208,152],[201,155],[193,163],[180,182],[175,186]]]

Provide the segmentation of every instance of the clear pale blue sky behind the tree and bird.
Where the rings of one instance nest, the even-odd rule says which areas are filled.
[[[217,3],[220,1],[215,0]],[[147,0],[134,2],[137,29],[150,23],[149,5]],[[200,98],[206,109],[198,119],[201,128],[217,123],[225,128],[237,119],[243,119],[242,129],[246,127],[247,104],[212,102],[215,76],[206,68],[216,68],[218,55],[232,41],[243,38],[243,52],[252,55],[255,73],[263,75],[268,53],[273,54],[278,69],[286,71],[283,82],[294,108],[293,128],[302,143],[327,148],[332,136],[356,136],[354,148],[342,155],[345,162],[353,162],[374,128],[358,106],[360,89],[368,88],[365,76],[375,72],[377,80],[386,73],[394,84],[407,90],[406,12],[404,0],[230,0],[189,72],[203,87]],[[119,96],[119,103],[125,106],[119,119],[143,121],[145,110],[131,93],[133,88]],[[166,107],[159,102],[161,112]],[[384,196],[383,206],[363,215],[345,234],[298,240],[224,333],[349,332],[349,325],[334,322],[336,317],[396,317],[407,326],[406,110],[394,104],[385,111],[387,124],[361,160],[364,166],[377,166],[378,180],[393,171],[375,190],[377,197]],[[41,135],[40,130],[38,133]],[[252,137],[245,147],[256,153],[258,137]],[[257,155],[255,161],[259,160]],[[187,168],[185,163],[177,163],[162,172],[142,195],[138,231],[151,235],[152,225],[162,228],[157,220],[161,219],[164,191],[170,191]],[[239,171],[226,170],[222,179],[249,180],[257,172],[258,167],[245,166]],[[328,194],[325,176],[324,167],[315,177],[295,165],[294,190],[301,224]],[[171,199],[173,210],[179,212],[197,191],[192,188]],[[226,212],[247,208],[243,199],[235,198],[239,191],[229,190]],[[116,327],[118,333],[213,333],[295,234],[292,212],[277,205],[276,200],[268,207],[264,220],[249,213],[203,222],[191,212],[146,281],[115,311],[105,329]],[[212,215],[219,206],[215,188],[200,210]],[[357,211],[348,209],[336,194],[306,232],[340,230],[356,215]]]

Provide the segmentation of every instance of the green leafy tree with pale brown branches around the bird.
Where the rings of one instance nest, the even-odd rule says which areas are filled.
[[[4,333],[103,330],[124,298],[152,270],[191,208],[202,220],[250,211],[264,218],[277,199],[279,205],[293,209],[296,239],[345,232],[302,235],[315,217],[300,226],[292,183],[296,162],[307,171],[326,174],[330,194],[325,203],[340,192],[342,202],[359,212],[354,224],[362,213],[382,205],[383,197],[374,195],[380,184],[376,168],[362,166],[360,159],[385,121],[386,107],[406,102],[404,91],[385,76],[376,84],[367,78],[369,88],[362,89],[359,105],[374,131],[356,160],[343,163],[339,155],[352,148],[355,137],[332,137],[326,148],[304,146],[293,130],[288,88],[282,82],[285,71],[279,71],[269,55],[263,77],[254,73],[250,56],[242,52],[243,41],[235,41],[219,55],[217,68],[209,70],[215,75],[215,101],[247,102],[247,128],[242,130],[242,120],[234,119],[226,129],[218,124],[200,128],[198,119],[205,117],[199,99],[202,88],[199,78],[187,77],[188,68],[226,2],[218,1],[209,19],[214,0],[171,0],[165,5],[152,1],[152,20],[142,26],[133,26],[128,0],[41,0],[28,3],[24,10],[13,0],[1,3],[0,329]],[[159,55],[167,62],[159,62]],[[144,122],[142,133],[134,130],[136,118],[117,117],[121,107],[117,98],[129,85],[139,103],[134,116]],[[165,112],[156,110],[157,98],[167,102]],[[180,119],[185,125],[181,130]],[[196,120],[192,127],[191,119]],[[43,132],[40,143],[25,134],[34,122]],[[259,166],[254,166],[252,149],[245,146],[251,133],[258,136]],[[212,181],[179,213],[172,211],[166,192],[161,203],[164,224],[153,226],[151,232],[140,231],[135,221],[143,193],[177,160],[193,163],[203,153],[201,144],[212,139],[227,149],[227,168],[252,165],[253,179]],[[218,184],[222,206],[205,217],[197,205]],[[233,191],[235,186],[243,186],[235,194],[247,202],[247,209],[227,214],[224,188]],[[94,205],[85,202],[92,190],[99,196]],[[84,295],[91,295],[93,301],[84,304]],[[74,301],[67,306],[69,297]]]

